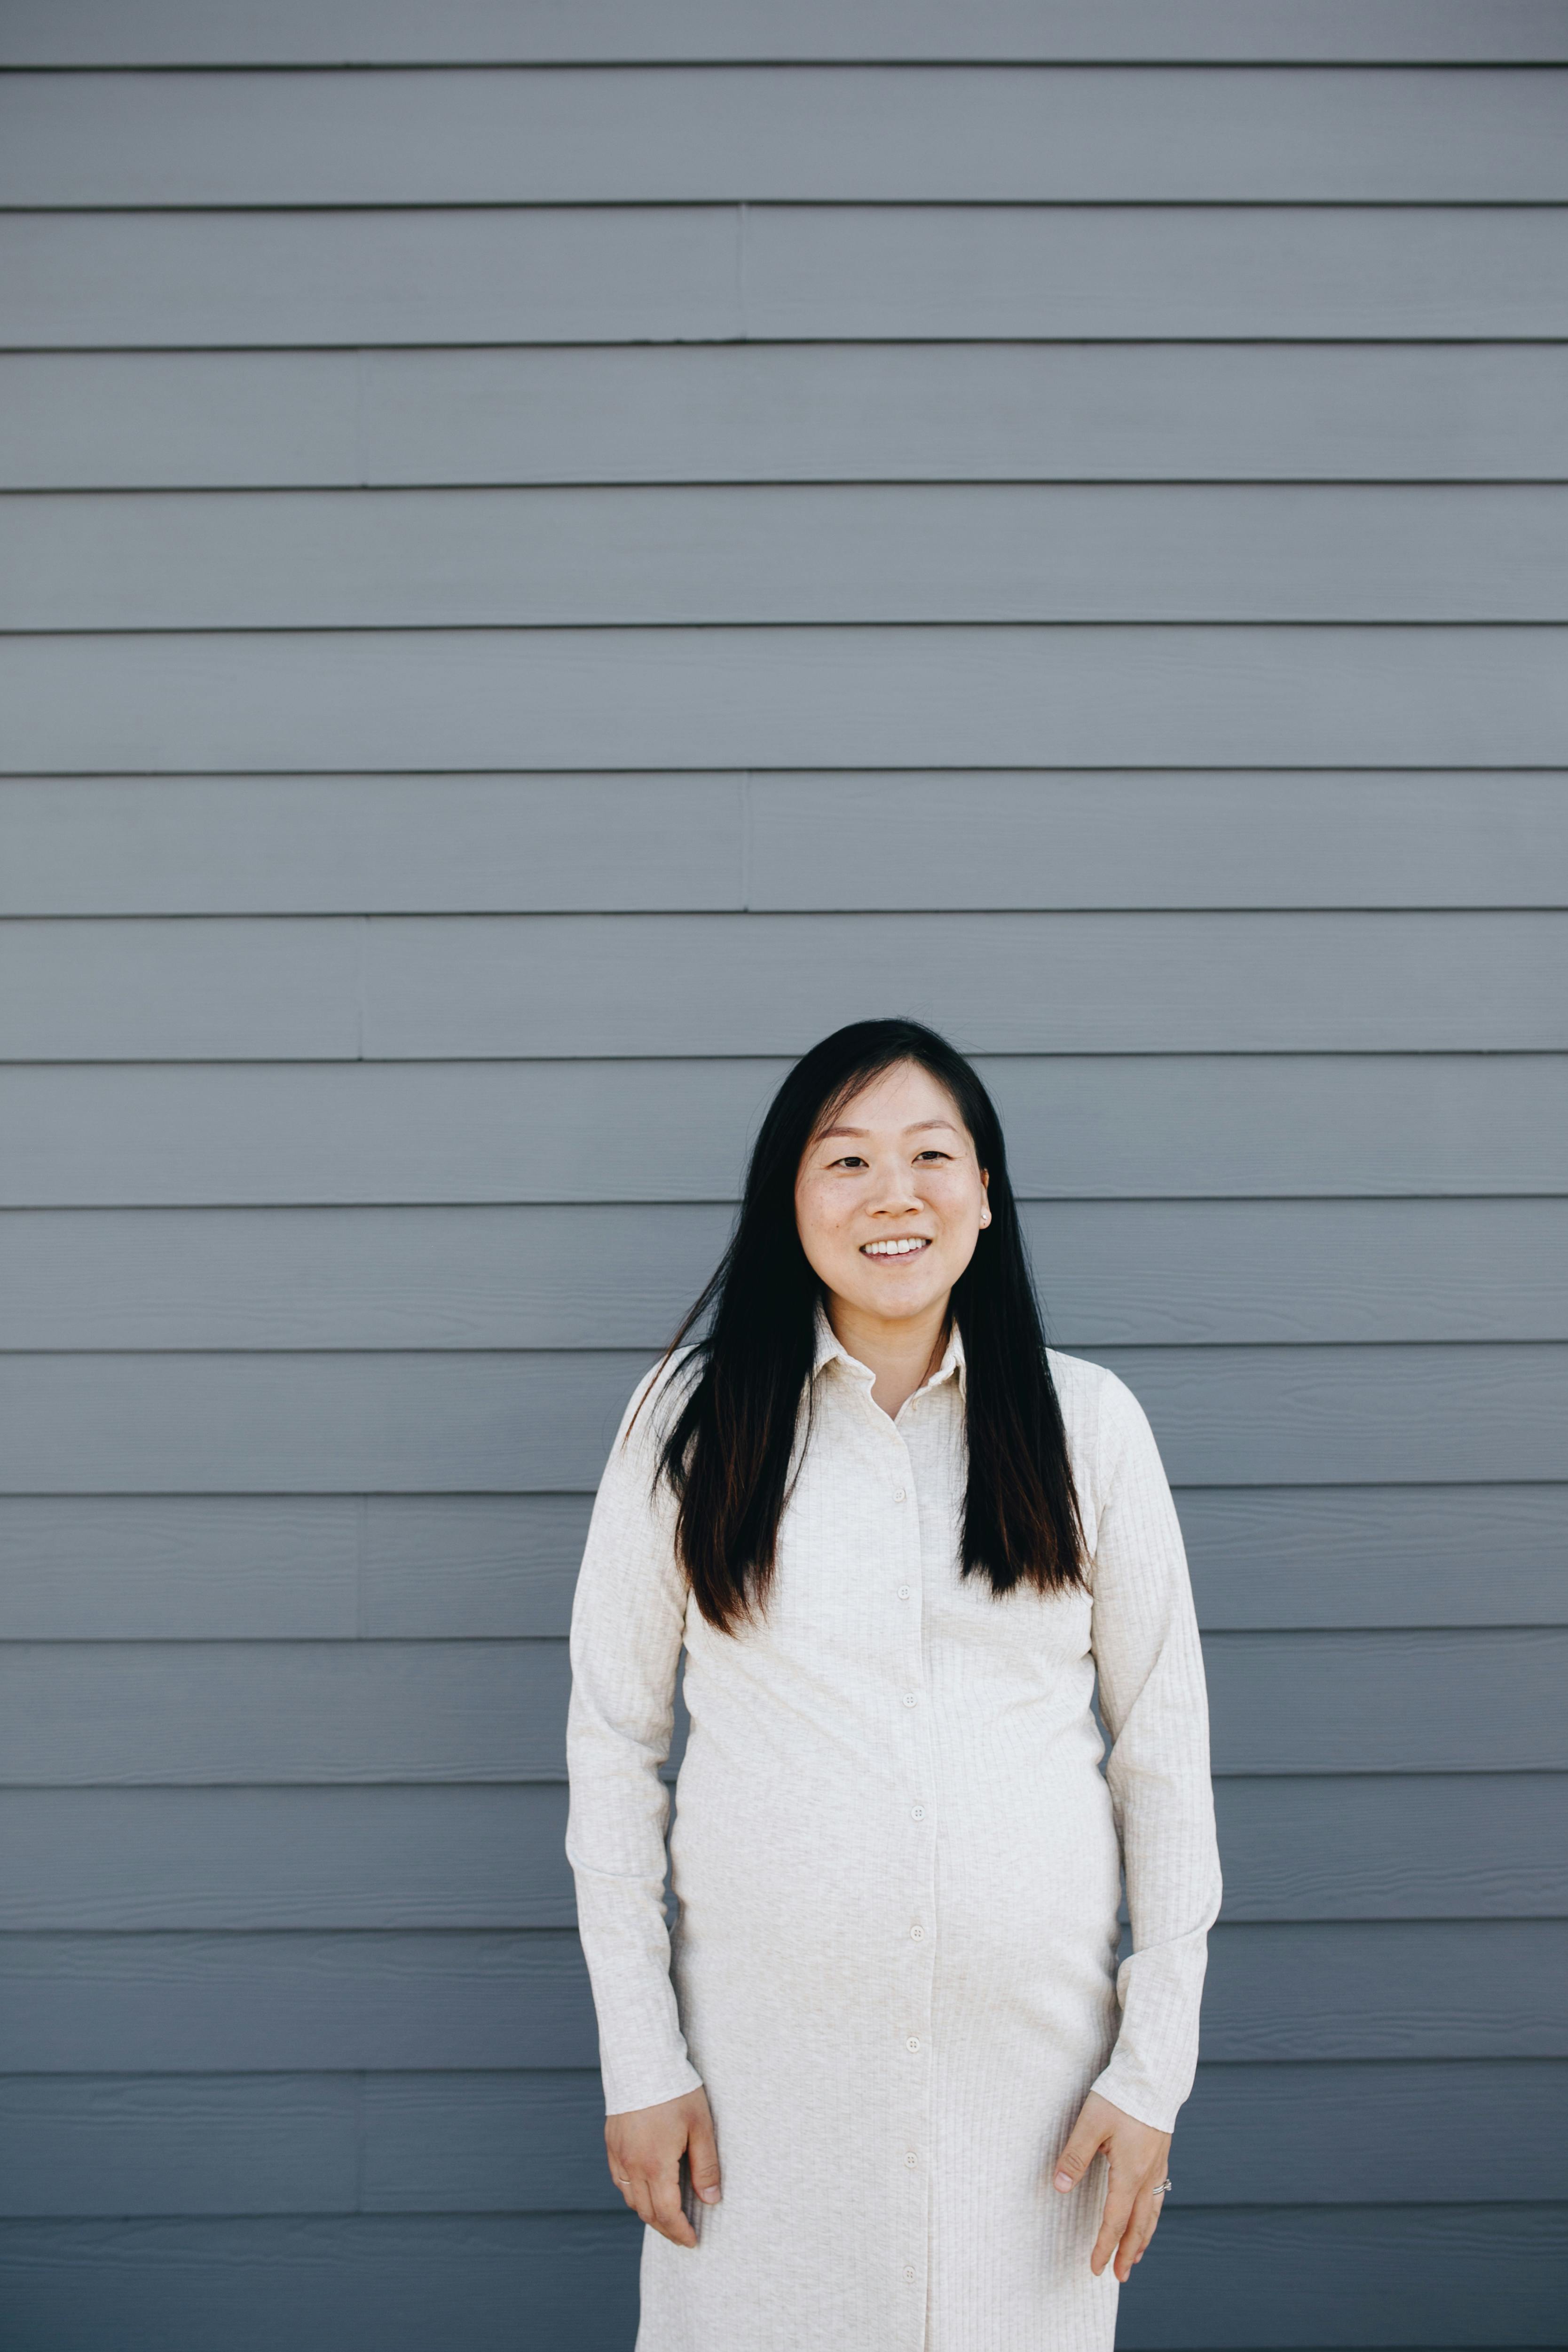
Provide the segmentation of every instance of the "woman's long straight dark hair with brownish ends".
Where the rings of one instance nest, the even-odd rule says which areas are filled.
[[[919,1021],[853,1021],[811,1047],[773,1096],[729,1249],[668,1350],[712,1310],[708,1336],[672,1381],[675,1418],[656,1475],[679,1505],[677,1550],[696,1604],[729,1632],[766,1602],[802,1397],[811,1406],[823,1284],[799,1242],[795,1178],[849,1096],[900,1061],[947,1089],[990,1176],[990,1225],[952,1287],[969,1390],[964,1576],[987,1576],[994,1592],[1084,1585],[1067,1435],[992,1098]]]

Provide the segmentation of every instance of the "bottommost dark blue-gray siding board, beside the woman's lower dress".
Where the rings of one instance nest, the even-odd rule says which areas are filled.
[[[1246,2352],[1267,2340],[1279,2279],[1300,2340],[1354,2345],[1399,2281],[1385,2343],[1495,2352],[1497,2310],[1549,2343],[1568,2244],[1549,2206],[1380,2206],[1258,2213],[1173,2209],[1161,2263],[1124,2288],[1126,2352]],[[541,2336],[625,2343],[635,2328],[637,2230],[614,2216],[355,2216],[334,2220],[9,2223],[0,2288],[28,2345],[92,2345],[108,2326],[160,2352],[273,2352],[280,2338],[343,2352],[512,2352],[517,2312]],[[1204,2312],[1204,2331],[1192,2312]]]

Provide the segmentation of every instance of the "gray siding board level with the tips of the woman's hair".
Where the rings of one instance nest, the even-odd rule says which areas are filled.
[[[5,1642],[564,1635],[585,1494],[2,1496]],[[1178,1486],[1211,1630],[1552,1625],[1561,1484]]]

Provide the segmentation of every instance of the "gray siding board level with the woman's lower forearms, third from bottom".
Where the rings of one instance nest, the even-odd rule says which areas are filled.
[[[31,2077],[407,2074],[599,2056],[567,1929],[12,1933],[0,1987],[0,2065]],[[1568,1919],[1220,1922],[1206,1999],[1208,2082],[1237,2060],[1561,2060]]]

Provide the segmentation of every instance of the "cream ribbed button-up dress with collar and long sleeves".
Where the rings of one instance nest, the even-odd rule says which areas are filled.
[[[705,2084],[724,2171],[722,2204],[686,2197],[696,2249],[644,2232],[637,2352],[1112,2347],[1105,2157],[1072,2194],[1053,2159],[1091,2089],[1175,2124],[1220,1865],[1150,1423],[1105,1367],[1051,1374],[1093,1590],[997,1597],[959,1573],[957,1331],[891,1421],[818,1310],[776,1581],[738,1635],[689,1602],[651,1494],[661,1397],[621,1423],[571,1618],[567,1853],[607,2110]]]

